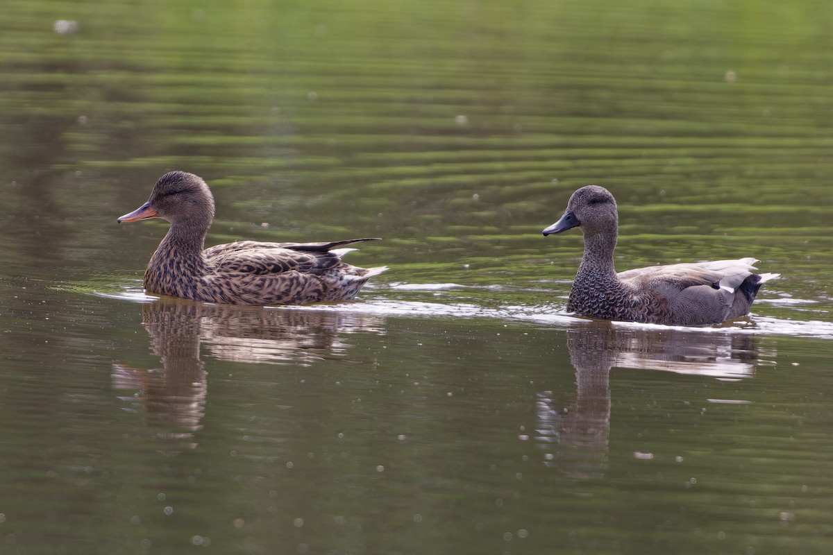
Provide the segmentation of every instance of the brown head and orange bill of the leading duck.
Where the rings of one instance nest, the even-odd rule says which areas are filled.
[[[214,217],[214,197],[202,177],[185,171],[169,171],[153,186],[151,197],[136,210],[117,220],[163,218],[175,223],[209,225]]]

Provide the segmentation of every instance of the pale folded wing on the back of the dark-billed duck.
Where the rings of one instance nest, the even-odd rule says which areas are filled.
[[[649,266],[620,272],[618,277],[641,288],[650,287],[656,290],[684,290],[696,285],[709,285],[713,289],[734,291],[756,269],[753,264],[757,261],[754,258],[741,258]]]

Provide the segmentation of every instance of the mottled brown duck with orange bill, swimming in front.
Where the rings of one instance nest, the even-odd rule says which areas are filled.
[[[353,299],[387,266],[359,268],[342,261],[347,245],[379,237],[320,243],[241,240],[205,249],[214,218],[214,197],[202,177],[170,171],[148,201],[118,223],[162,218],[170,222],[145,271],[144,287],[223,305],[308,305]]]

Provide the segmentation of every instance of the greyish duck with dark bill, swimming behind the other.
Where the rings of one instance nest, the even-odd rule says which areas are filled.
[[[602,186],[584,186],[543,234],[579,228],[584,254],[567,310],[602,320],[661,325],[716,325],[749,314],[758,290],[780,274],[756,274],[751,257],[657,265],[616,272],[616,199]]]

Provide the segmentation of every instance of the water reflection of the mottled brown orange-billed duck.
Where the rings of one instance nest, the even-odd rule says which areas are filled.
[[[112,387],[138,390],[123,399],[147,414],[157,437],[175,442],[170,453],[196,447],[192,440],[201,428],[207,396],[201,344],[215,359],[309,365],[347,349],[343,334],[383,333],[383,320],[376,316],[170,298],[142,305],[142,325],[152,338],[152,352],[162,357],[162,369],[113,364]]]

